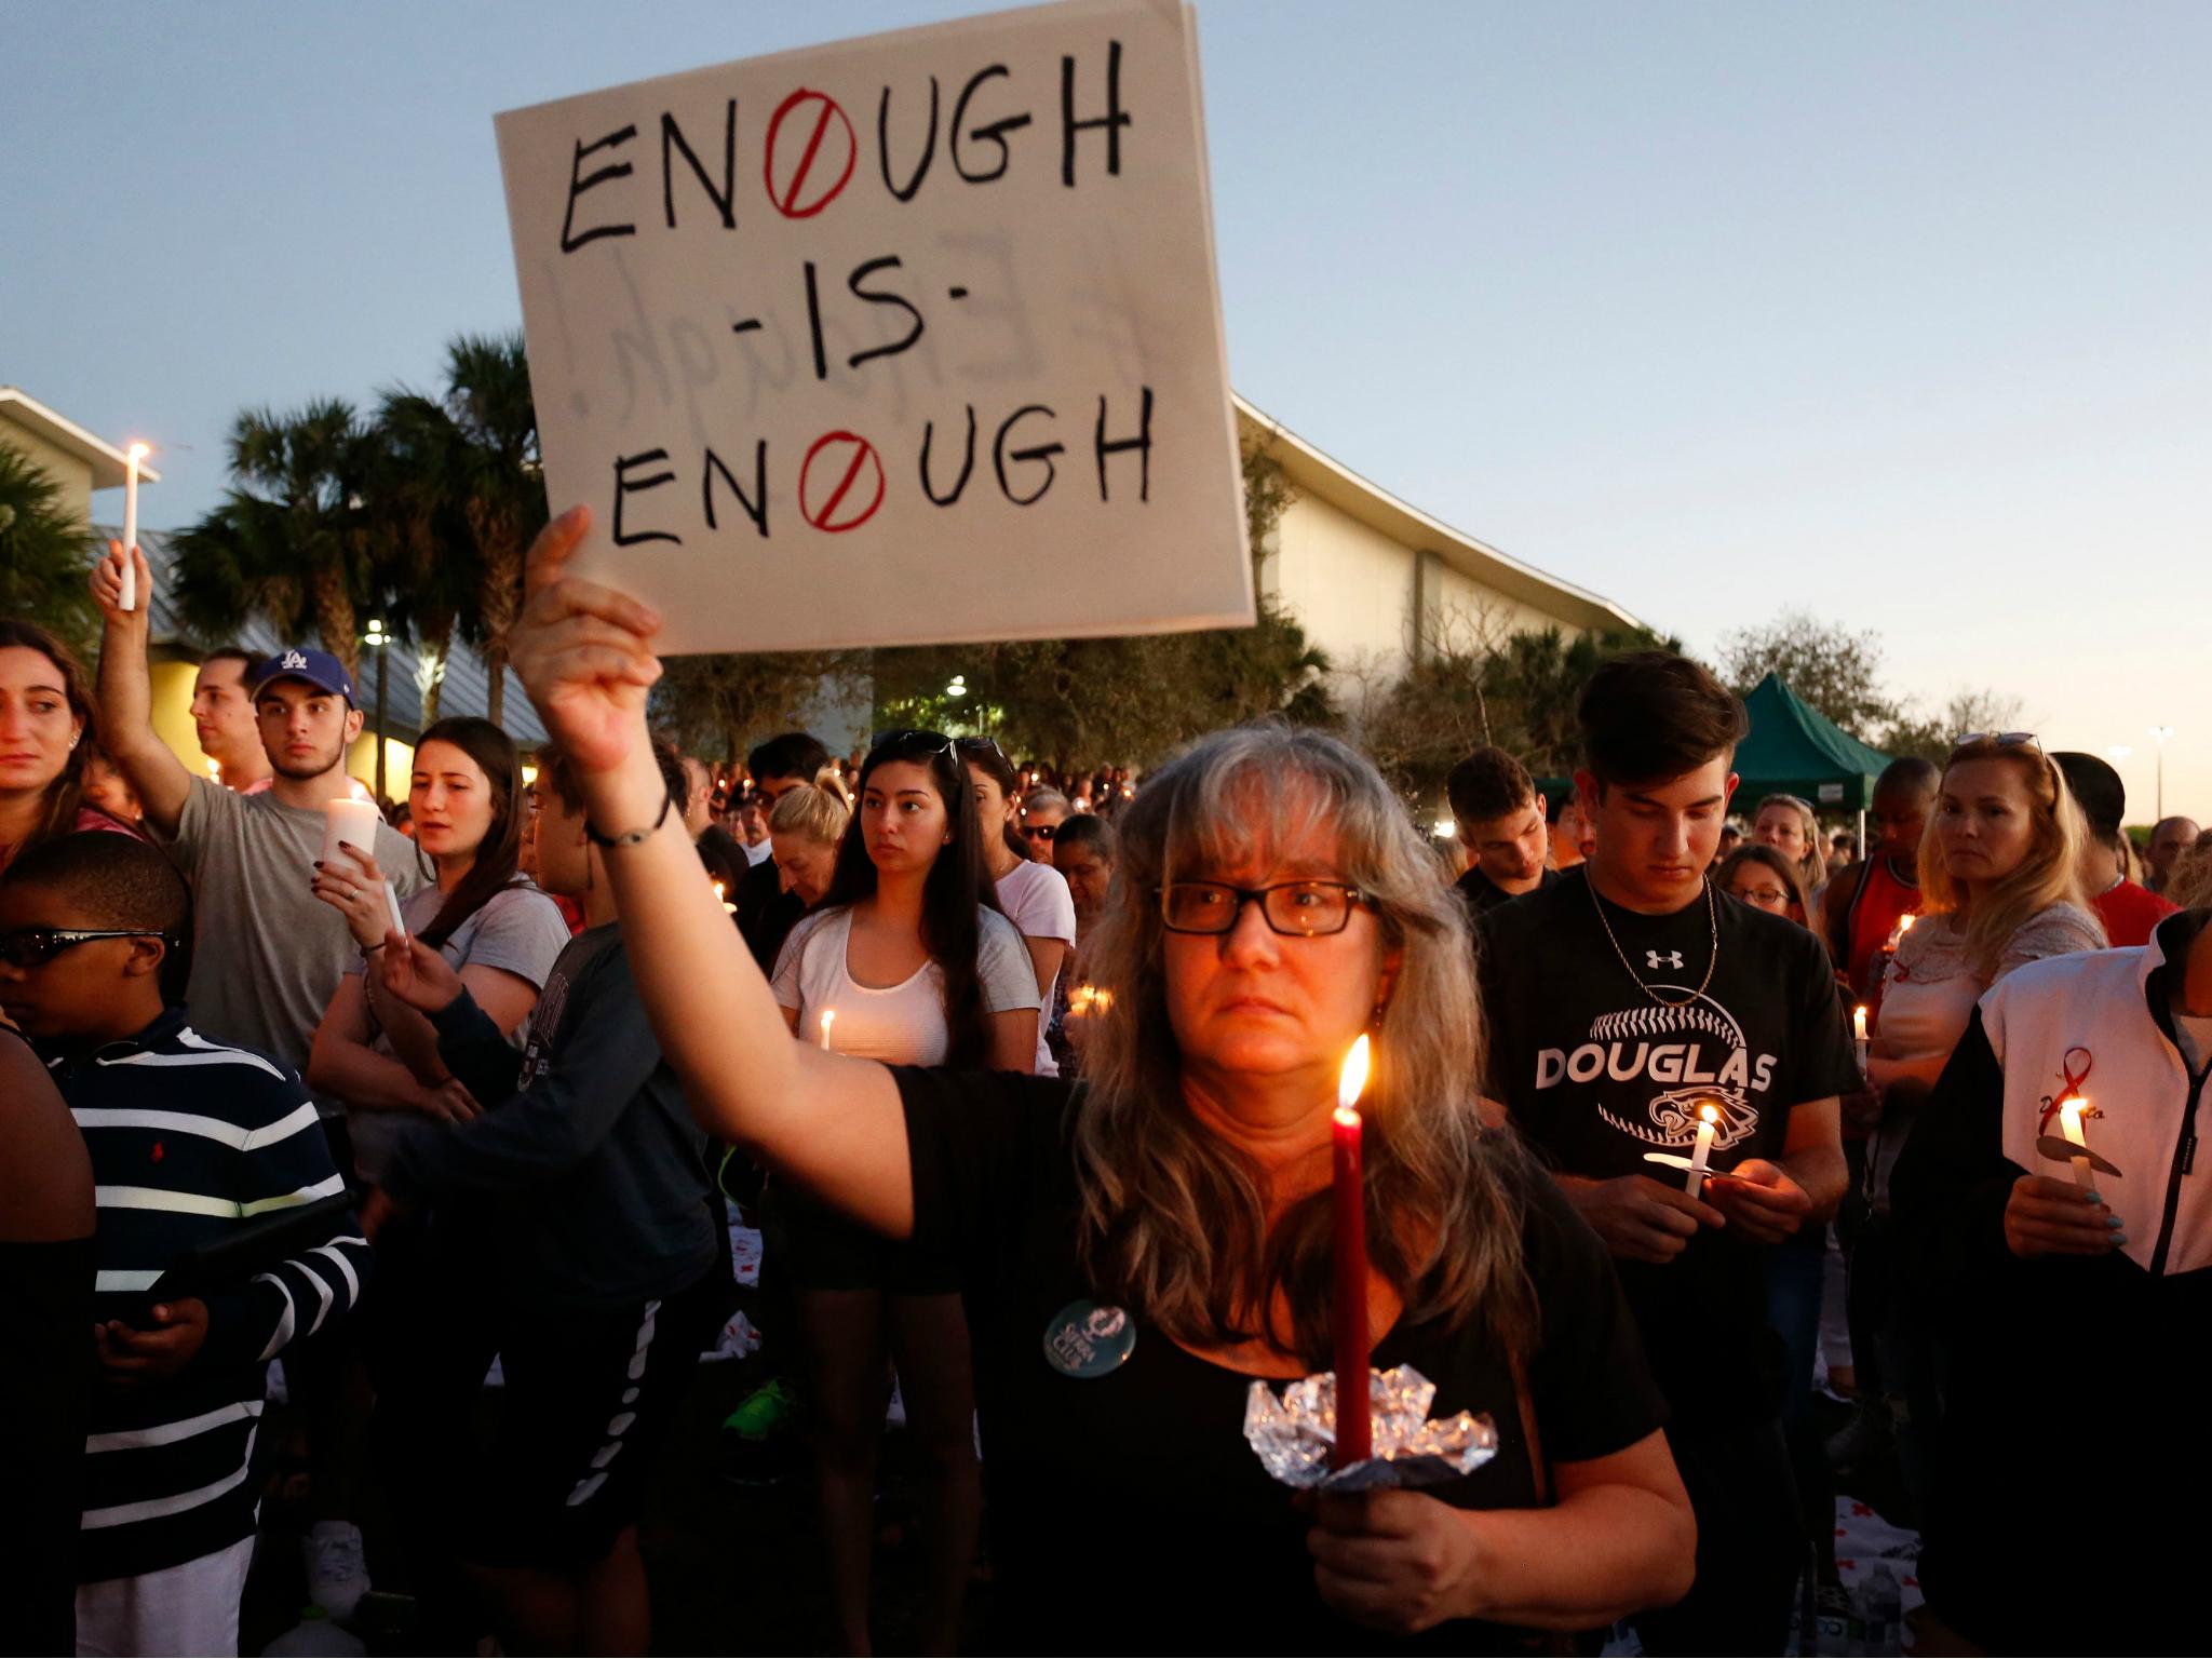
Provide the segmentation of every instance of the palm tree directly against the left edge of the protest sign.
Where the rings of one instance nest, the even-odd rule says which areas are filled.
[[[460,438],[449,487],[476,542],[478,602],[469,635],[491,681],[487,714],[507,712],[509,639],[522,615],[522,560],[546,522],[538,409],[520,334],[462,334],[445,354],[445,411]]]

